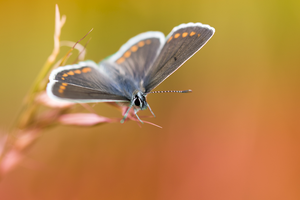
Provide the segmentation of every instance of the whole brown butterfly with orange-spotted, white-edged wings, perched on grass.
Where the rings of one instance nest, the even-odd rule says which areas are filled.
[[[155,93],[151,91],[201,49],[214,32],[209,25],[190,22],[174,27],[167,37],[159,31],[141,33],[99,64],[83,61],[54,69],[47,94],[76,103],[125,102],[128,110],[121,123],[132,107],[140,120],[138,110],[149,108],[152,112],[146,95]]]

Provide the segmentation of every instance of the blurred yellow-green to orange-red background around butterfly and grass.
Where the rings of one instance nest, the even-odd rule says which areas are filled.
[[[1,129],[52,52],[55,3],[61,40],[94,28],[96,62],[141,32],[187,22],[216,32],[155,89],[193,93],[148,96],[162,129],[49,129],[1,180],[0,199],[300,199],[300,1],[1,0]]]

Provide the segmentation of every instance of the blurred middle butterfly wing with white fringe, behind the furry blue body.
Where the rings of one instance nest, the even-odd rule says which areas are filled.
[[[111,76],[119,82],[126,94],[132,95],[134,90],[145,91],[145,73],[153,66],[164,43],[165,36],[159,31],[141,33],[128,40],[118,52],[104,59],[100,65],[110,70]]]

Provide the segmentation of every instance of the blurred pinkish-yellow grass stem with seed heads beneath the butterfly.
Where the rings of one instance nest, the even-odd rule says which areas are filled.
[[[49,82],[49,73],[59,67],[64,66],[73,49],[78,50],[78,57],[74,62],[82,61],[86,54],[86,45],[82,46],[78,42],[85,38],[88,32],[81,40],[75,42],[60,42],[61,28],[66,22],[66,16],[60,16],[58,5],[55,5],[55,30],[54,30],[54,48],[51,55],[47,58],[44,66],[27,94],[20,114],[11,130],[0,134],[0,176],[4,176],[7,172],[18,166],[24,158],[26,158],[26,150],[30,148],[34,142],[41,136],[43,130],[53,127],[57,124],[77,125],[77,126],[94,126],[103,123],[119,122],[121,118],[111,119],[98,115],[95,110],[86,103],[83,106],[90,113],[73,113],[76,107],[75,103],[56,101],[48,97],[46,94],[46,85]],[[69,46],[71,49],[63,58],[57,60],[61,46]],[[56,63],[55,63],[56,61]],[[55,64],[54,64],[55,63]],[[120,106],[117,103],[110,102],[109,105],[119,109],[124,116],[127,106]],[[42,109],[41,109],[42,108]],[[139,120],[134,115],[133,110],[129,112],[128,120]],[[145,123],[152,124],[147,121]],[[153,124],[155,125],[155,124]],[[140,126],[140,124],[139,124]],[[155,125],[157,126],[157,125]]]

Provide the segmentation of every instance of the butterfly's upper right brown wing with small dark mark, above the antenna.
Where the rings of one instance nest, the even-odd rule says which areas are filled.
[[[194,55],[214,34],[214,28],[201,23],[181,24],[166,38],[155,63],[145,77],[146,92],[150,92]]]

